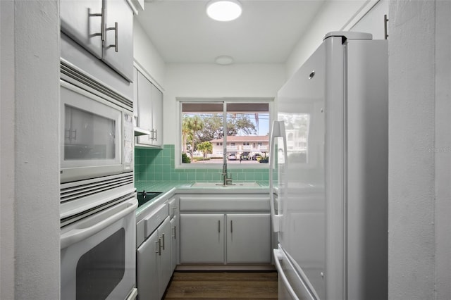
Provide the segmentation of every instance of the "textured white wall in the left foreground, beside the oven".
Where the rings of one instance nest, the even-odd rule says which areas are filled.
[[[0,298],[58,299],[58,1],[0,8]]]

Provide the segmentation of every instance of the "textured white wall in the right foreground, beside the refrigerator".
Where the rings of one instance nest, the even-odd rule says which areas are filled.
[[[389,299],[451,299],[450,15],[390,1]]]

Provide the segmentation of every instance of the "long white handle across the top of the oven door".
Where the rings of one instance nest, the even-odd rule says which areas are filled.
[[[74,224],[73,228],[68,230],[68,232],[64,232],[61,235],[61,249],[95,235],[109,225],[121,220],[125,215],[134,212],[137,207],[138,201],[136,197],[133,197],[121,204],[81,220],[79,223]]]

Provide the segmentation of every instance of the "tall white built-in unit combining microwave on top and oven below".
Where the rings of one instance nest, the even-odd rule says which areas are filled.
[[[117,77],[61,35],[61,299],[137,296],[133,108]]]

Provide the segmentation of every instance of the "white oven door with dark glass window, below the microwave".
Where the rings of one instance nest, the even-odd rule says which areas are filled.
[[[61,299],[135,299],[135,194],[61,228]]]

